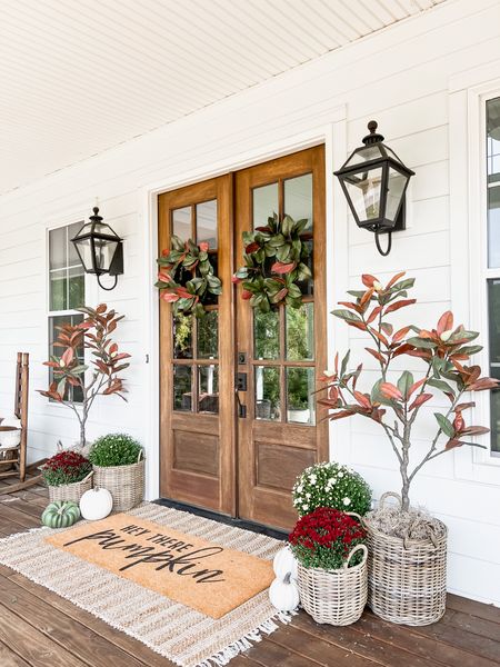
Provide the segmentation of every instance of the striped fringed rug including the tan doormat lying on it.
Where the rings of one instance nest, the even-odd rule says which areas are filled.
[[[74,541],[101,531],[106,536]],[[119,542],[122,538],[126,541]],[[69,541],[73,544],[64,546]],[[186,545],[192,546],[182,550]],[[227,665],[262,634],[271,634],[277,620],[290,620],[270,605],[267,590],[272,579],[270,560],[281,546],[270,537],[143,504],[103,521],[4,538],[0,563],[177,665],[211,667]],[[154,548],[146,551],[144,547]],[[208,549],[201,554],[210,556],[189,563],[180,558],[200,549]],[[197,587],[203,589],[202,596]]]

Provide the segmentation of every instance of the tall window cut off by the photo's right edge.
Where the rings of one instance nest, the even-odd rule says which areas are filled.
[[[490,376],[500,379],[500,97],[486,101],[488,344]],[[500,389],[491,391],[491,452],[500,455]]]

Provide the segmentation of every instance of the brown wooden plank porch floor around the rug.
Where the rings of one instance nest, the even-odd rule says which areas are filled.
[[[0,488],[10,480],[0,482]],[[0,536],[38,527],[47,491],[0,496]],[[0,566],[1,667],[169,667],[172,665],[63,598]],[[231,667],[492,667],[500,665],[500,609],[450,595],[444,618],[426,628],[366,611],[346,628],[300,613],[290,626],[234,658]]]

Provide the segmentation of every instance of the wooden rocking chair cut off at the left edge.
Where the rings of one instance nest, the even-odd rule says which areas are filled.
[[[21,440],[17,447],[0,448],[0,479],[3,477],[19,477],[20,484],[9,486],[6,489],[0,490],[0,494],[20,490],[22,488],[26,488],[27,486],[38,484],[40,479],[40,477],[38,476],[26,481],[26,460],[28,441],[28,391],[29,355],[28,352],[18,352],[18,361],[16,367],[14,415],[20,420]],[[2,428],[1,424],[0,428]]]

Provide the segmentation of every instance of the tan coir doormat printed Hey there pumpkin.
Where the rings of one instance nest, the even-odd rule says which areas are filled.
[[[127,514],[46,540],[211,618],[266,590],[274,578],[269,560]]]

